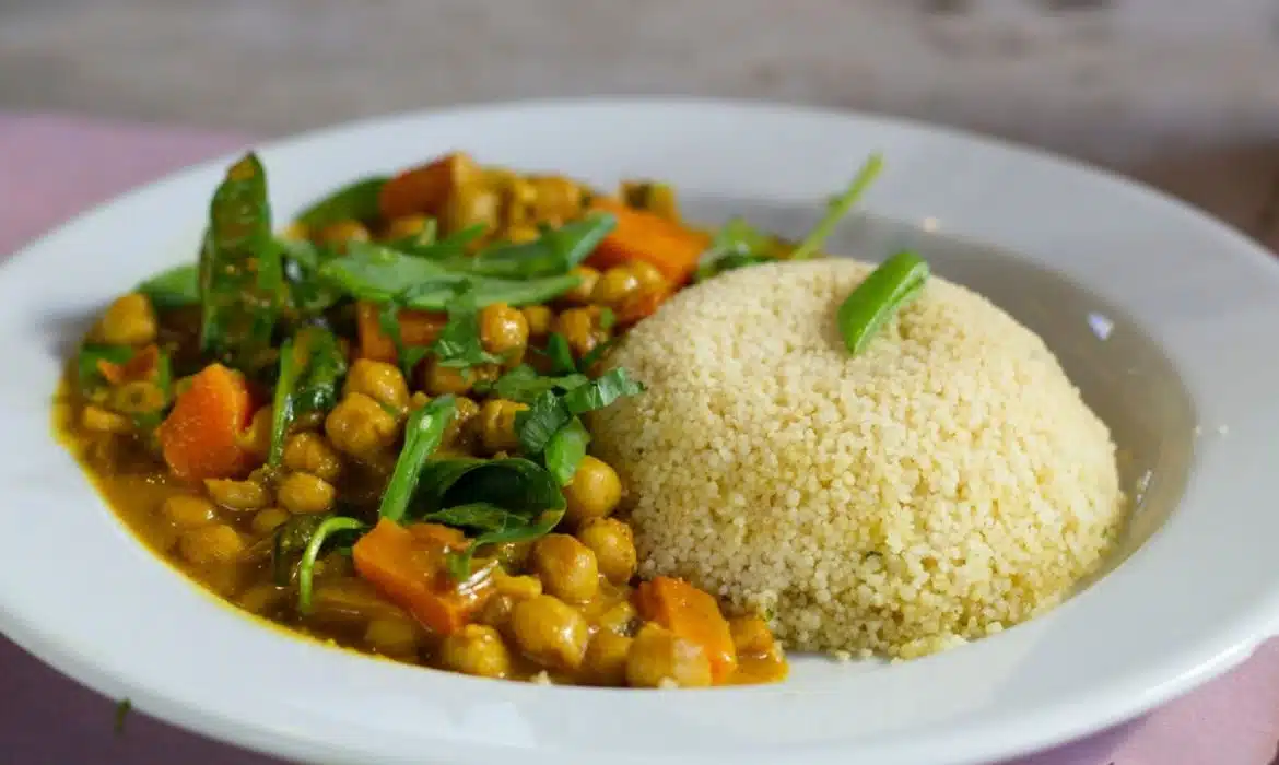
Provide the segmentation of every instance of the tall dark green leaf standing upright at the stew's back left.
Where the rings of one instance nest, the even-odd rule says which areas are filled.
[[[249,152],[214,192],[200,253],[200,347],[246,372],[269,363],[284,270],[271,235],[266,173]]]

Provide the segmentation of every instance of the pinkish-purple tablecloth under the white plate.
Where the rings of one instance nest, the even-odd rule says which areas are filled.
[[[58,116],[0,115],[0,255],[130,185],[230,151],[224,133]],[[0,637],[5,765],[271,765],[134,713],[59,675]],[[1017,765],[1267,765],[1279,738],[1279,642],[1143,719]]]

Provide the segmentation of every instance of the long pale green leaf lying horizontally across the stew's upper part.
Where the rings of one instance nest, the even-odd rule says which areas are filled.
[[[445,311],[458,289],[469,284],[476,306],[545,303],[578,285],[572,274],[541,279],[492,279],[450,270],[370,242],[350,242],[347,256],[320,267],[320,274],[358,299],[385,303],[403,296],[403,307]]]

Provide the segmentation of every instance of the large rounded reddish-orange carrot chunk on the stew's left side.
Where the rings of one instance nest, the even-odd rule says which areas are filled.
[[[253,416],[244,376],[211,363],[191,379],[156,435],[169,469],[182,478],[234,478],[253,468],[243,432]]]

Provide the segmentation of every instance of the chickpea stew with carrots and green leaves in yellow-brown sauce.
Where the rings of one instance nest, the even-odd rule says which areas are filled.
[[[767,623],[636,577],[625,486],[583,414],[643,395],[610,345],[682,287],[784,258],[674,191],[615,196],[450,154],[276,232],[252,154],[196,264],[115,299],[56,427],[157,554],[239,609],[489,678],[780,681]],[[812,249],[810,246],[808,249]]]

